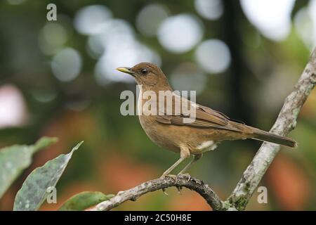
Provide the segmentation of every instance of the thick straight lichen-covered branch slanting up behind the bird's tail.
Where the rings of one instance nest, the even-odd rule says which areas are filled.
[[[287,136],[295,128],[298,113],[305,103],[308,95],[316,83],[316,49],[310,56],[310,61],[305,67],[300,79],[294,86],[294,91],[285,99],[282,110],[279,112],[277,121],[270,132],[281,136]],[[237,210],[244,210],[260,183],[263,174],[270,166],[275,155],[279,152],[279,145],[264,142],[259,148],[251,164],[247,167],[242,179],[228,198],[228,203]]]

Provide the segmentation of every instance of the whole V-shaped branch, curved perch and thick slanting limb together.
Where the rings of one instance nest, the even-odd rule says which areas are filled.
[[[296,126],[296,119],[305,103],[308,95],[316,84],[316,49],[310,56],[310,61],[305,67],[300,79],[294,86],[294,91],[287,96],[282,110],[277,117],[277,121],[273,125],[270,132],[281,136],[287,136],[289,132]],[[275,155],[279,152],[279,145],[274,143],[264,142],[258,153],[256,153],[251,164],[247,167],[237,184],[232,195],[222,202],[218,195],[203,181],[195,178],[190,178],[185,175],[176,176],[176,179],[166,176],[164,179],[154,179],[147,181],[135,188],[126,191],[120,191],[110,200],[98,204],[92,210],[111,210],[117,207],[126,200],[135,201],[145,193],[157,191],[159,189],[175,186],[178,189],[185,187],[196,191],[206,200],[213,210],[244,210],[246,205],[260,183],[263,174],[270,166]]]

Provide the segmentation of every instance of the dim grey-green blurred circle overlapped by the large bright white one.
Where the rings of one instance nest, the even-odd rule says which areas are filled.
[[[136,27],[146,36],[155,36],[159,25],[169,16],[166,7],[159,4],[145,6],[137,15]]]

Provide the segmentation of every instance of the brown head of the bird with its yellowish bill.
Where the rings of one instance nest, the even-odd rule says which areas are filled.
[[[162,69],[154,63],[139,63],[134,65],[133,68],[117,68],[121,72],[128,73],[136,79],[137,84],[153,89],[158,87],[160,90],[170,89],[166,76]]]

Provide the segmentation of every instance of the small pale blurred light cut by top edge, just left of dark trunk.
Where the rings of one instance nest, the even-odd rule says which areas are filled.
[[[195,9],[208,20],[217,20],[224,11],[221,0],[195,0]]]

